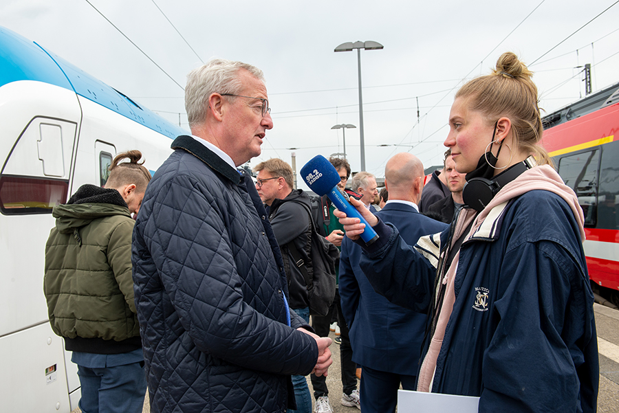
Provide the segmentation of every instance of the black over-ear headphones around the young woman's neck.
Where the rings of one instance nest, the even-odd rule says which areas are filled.
[[[535,158],[530,156],[522,162],[510,166],[492,179],[473,178],[470,179],[462,190],[464,203],[474,210],[481,211],[492,201],[497,192],[508,183],[519,177],[519,175],[537,165]]]

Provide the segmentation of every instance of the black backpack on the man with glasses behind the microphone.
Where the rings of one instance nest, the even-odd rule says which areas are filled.
[[[304,262],[292,241],[287,243],[287,247],[294,259],[294,265],[298,267],[305,279],[307,295],[310,298],[310,314],[324,316],[329,312],[329,307],[335,297],[335,265],[340,258],[340,251],[335,245],[329,243],[327,238],[316,232],[316,225],[310,208],[305,203],[301,203],[301,205],[307,210],[310,219],[310,230],[312,232],[310,236],[310,263]]]

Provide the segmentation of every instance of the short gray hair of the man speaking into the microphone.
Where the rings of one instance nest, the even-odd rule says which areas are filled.
[[[257,67],[226,59],[210,60],[206,65],[197,67],[187,74],[185,111],[190,127],[204,122],[211,94],[241,93],[243,85],[239,80],[240,69],[247,70],[252,76],[264,82],[264,74]]]

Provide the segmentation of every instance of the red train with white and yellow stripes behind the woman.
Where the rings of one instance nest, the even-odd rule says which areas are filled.
[[[543,122],[542,144],[585,214],[591,285],[619,306],[619,83]]]

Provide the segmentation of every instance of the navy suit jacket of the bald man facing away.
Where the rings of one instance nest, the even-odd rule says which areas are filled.
[[[404,203],[387,203],[376,216],[395,225],[409,245],[447,225]],[[353,361],[374,370],[417,375],[426,314],[392,304],[376,293],[359,267],[361,247],[344,237],[340,256],[340,298],[350,328]]]

